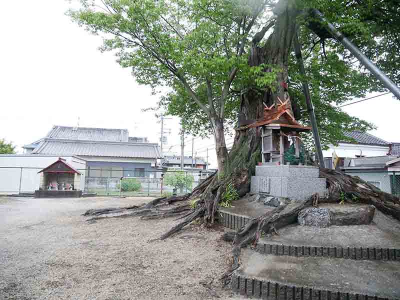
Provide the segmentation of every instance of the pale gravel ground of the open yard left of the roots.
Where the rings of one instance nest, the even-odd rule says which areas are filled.
[[[0,197],[0,299],[239,299],[218,281],[230,257],[223,227],[151,241],[176,221],[80,215],[149,200]]]

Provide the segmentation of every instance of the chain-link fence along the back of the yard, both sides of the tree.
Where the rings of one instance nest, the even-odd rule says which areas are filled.
[[[33,193],[39,188],[42,167],[0,167],[0,194]],[[180,195],[193,190],[213,171],[210,170],[125,170],[77,169],[80,173],[80,189],[84,193],[97,195]],[[94,170],[94,171],[93,171]],[[91,175],[94,174],[94,175]],[[400,196],[400,172],[393,171],[347,171],[380,188],[382,191]],[[129,175],[129,176],[126,176]],[[62,187],[62,177],[58,186]],[[64,180],[65,181],[65,180]]]

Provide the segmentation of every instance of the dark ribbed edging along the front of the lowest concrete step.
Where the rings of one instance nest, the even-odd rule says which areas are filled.
[[[365,294],[291,286],[232,274],[231,288],[241,295],[268,300],[398,300]]]

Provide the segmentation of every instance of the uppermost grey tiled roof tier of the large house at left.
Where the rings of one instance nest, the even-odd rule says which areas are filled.
[[[128,141],[127,129],[107,129],[89,127],[53,126],[47,138]]]

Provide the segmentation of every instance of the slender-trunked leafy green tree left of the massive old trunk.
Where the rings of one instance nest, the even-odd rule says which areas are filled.
[[[228,163],[225,116],[232,114],[230,87],[251,76],[245,50],[269,0],[82,1],[71,17],[102,33],[102,50],[117,50],[139,83],[179,90],[206,116],[215,139],[218,169]],[[270,84],[272,76],[262,83]],[[189,104],[189,105],[190,105]]]

